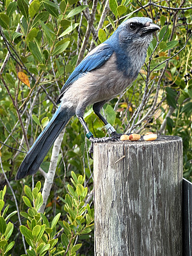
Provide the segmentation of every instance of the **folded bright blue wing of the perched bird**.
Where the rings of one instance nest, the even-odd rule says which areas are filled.
[[[86,72],[92,71],[95,68],[99,68],[104,65],[104,63],[111,57],[113,52],[113,48],[108,44],[100,44],[95,49],[93,49],[75,68],[70,77],[68,77],[66,83],[61,89],[61,93],[57,99],[56,104],[60,103],[60,99],[63,96],[63,93],[65,93],[65,90],[67,90],[68,86],[79,79],[79,77],[86,74]]]

